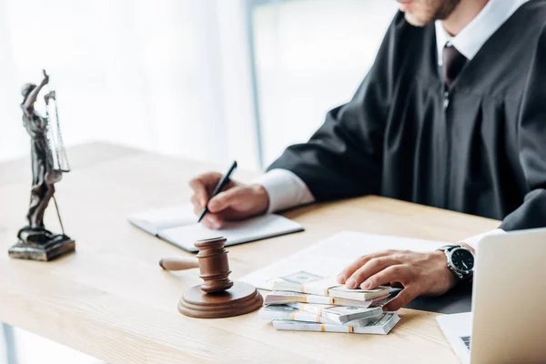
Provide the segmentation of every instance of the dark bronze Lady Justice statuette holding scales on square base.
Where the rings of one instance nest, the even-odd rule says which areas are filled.
[[[73,252],[76,244],[65,234],[54,196],[55,184],[61,180],[63,173],[70,171],[59,125],[56,92],[52,90],[44,96],[45,117],[35,110],[38,94],[49,83],[49,76],[45,70],[43,72],[44,79],[40,85],[25,84],[22,89],[23,124],[31,138],[32,189],[26,214],[28,226],[19,230],[16,244],[9,249],[9,256],[47,261]],[[44,226],[45,208],[52,198],[61,234],[53,233]]]

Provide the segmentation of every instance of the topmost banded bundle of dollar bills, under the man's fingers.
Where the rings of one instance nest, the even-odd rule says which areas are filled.
[[[380,286],[375,289],[349,289],[337,283],[336,278],[320,277],[312,273],[300,271],[286,277],[277,278],[273,282],[273,290],[308,293],[332,298],[346,298],[359,301],[369,301],[387,296],[389,288]]]

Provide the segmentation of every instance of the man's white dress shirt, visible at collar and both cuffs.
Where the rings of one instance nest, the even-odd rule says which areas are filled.
[[[521,5],[529,0],[490,0],[481,9],[469,25],[465,26],[458,35],[451,36],[443,27],[440,20],[436,26],[436,44],[438,47],[439,65],[443,63],[443,48],[449,42],[465,56],[469,61],[478,54],[482,45],[501,27]],[[268,191],[268,212],[275,212],[290,207],[307,205],[315,201],[315,197],[309,191],[305,182],[293,172],[286,169],[273,169],[258,178],[256,183],[262,185]],[[503,230],[497,228],[476,237],[466,238],[463,242],[473,248],[477,248],[481,238],[493,234],[502,234]]]

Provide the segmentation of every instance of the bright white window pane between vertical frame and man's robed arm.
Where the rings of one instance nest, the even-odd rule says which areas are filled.
[[[304,142],[350,100],[398,5],[386,0],[255,0],[264,162]]]

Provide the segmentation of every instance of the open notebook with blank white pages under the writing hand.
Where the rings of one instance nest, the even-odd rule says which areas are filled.
[[[227,222],[220,230],[197,224],[190,204],[160,208],[127,217],[129,222],[149,234],[184,250],[197,252],[194,243],[204,238],[227,238],[226,246],[302,231],[297,222],[275,214]]]

